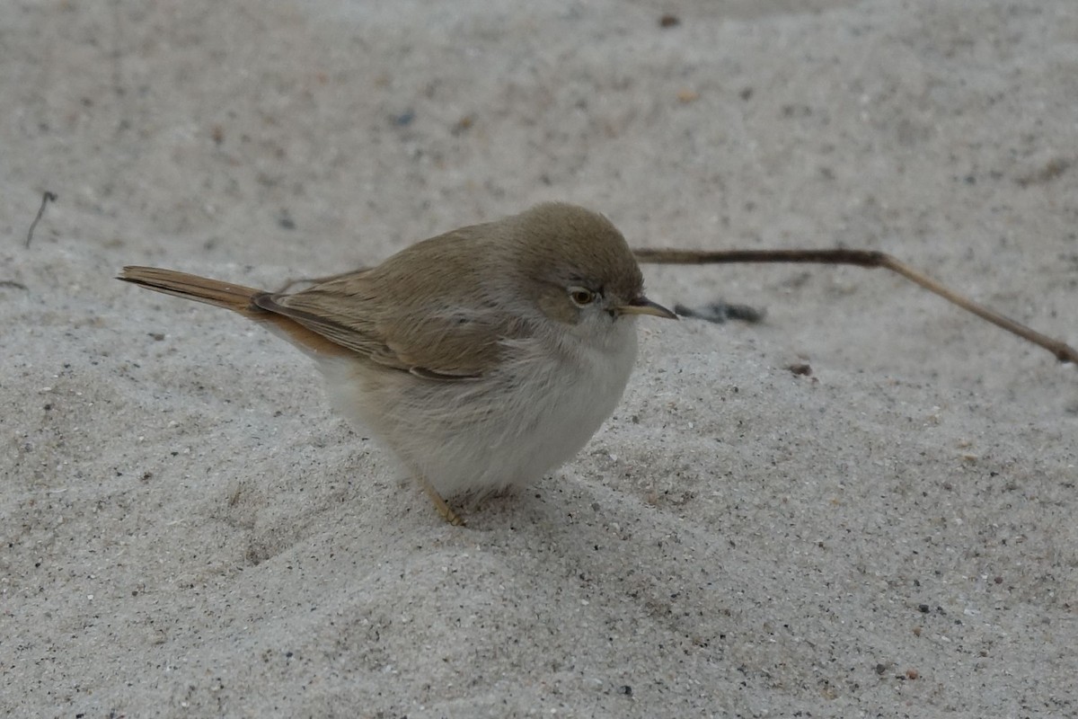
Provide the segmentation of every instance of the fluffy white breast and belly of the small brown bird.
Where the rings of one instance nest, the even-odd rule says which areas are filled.
[[[443,497],[539,480],[588,443],[621,399],[636,359],[636,327],[621,318],[586,342],[510,344],[487,377],[425,381],[356,362],[323,365],[335,404]]]

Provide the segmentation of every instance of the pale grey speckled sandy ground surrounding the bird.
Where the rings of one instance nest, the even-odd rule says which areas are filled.
[[[1078,716],[1078,373],[898,278],[648,269],[766,322],[644,322],[616,416],[467,529],[299,352],[112,279],[568,199],[884,250],[1075,344],[1074,0],[2,15],[0,714]]]

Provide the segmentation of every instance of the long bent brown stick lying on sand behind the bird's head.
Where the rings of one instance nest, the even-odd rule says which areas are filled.
[[[981,319],[987,320],[1012,334],[1044,347],[1061,362],[1078,364],[1078,350],[1069,345],[1041,334],[1015,320],[1005,317],[994,309],[973,302],[939,284],[924,273],[899,262],[885,252],[872,250],[634,250],[636,259],[652,264],[729,264],[734,262],[799,262],[815,264],[849,264],[859,267],[884,267],[898,273],[929,292],[935,292],[948,302],[954,303]]]

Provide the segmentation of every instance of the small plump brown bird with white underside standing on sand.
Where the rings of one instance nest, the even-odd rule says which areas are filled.
[[[273,293],[171,269],[120,279],[225,307],[313,357],[334,404],[444,497],[525,485],[610,416],[638,315],[676,319],[605,217],[550,203]]]

